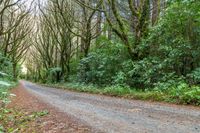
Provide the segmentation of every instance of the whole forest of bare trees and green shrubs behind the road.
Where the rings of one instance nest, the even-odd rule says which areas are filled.
[[[0,85],[19,79],[200,105],[200,1],[0,0]]]

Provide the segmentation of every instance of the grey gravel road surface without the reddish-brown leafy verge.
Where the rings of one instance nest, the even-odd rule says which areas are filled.
[[[22,81],[43,102],[98,133],[200,133],[200,108],[125,100]]]

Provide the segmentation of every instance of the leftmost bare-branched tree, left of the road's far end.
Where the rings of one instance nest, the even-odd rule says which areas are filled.
[[[20,1],[2,0],[0,44],[4,56],[11,59],[13,77],[17,78],[17,65],[22,61],[29,44],[26,37],[30,32],[29,10],[25,10]]]

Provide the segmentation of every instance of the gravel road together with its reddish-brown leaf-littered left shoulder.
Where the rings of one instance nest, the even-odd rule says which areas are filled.
[[[77,93],[26,81],[13,93],[17,97],[11,107],[49,111],[33,122],[37,133],[200,132],[199,107]]]

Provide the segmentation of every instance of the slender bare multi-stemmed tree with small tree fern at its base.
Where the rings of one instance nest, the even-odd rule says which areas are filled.
[[[39,5],[41,15],[37,17],[38,33],[34,49],[38,52],[36,55],[41,57],[40,68],[46,70],[47,77],[52,77],[50,75],[53,72],[56,78],[52,80],[57,82],[67,79],[69,63],[76,49],[73,45],[74,35],[68,29],[68,26],[71,29],[74,27],[68,15],[68,12],[72,12],[69,7],[68,1],[51,0],[46,10]]]

